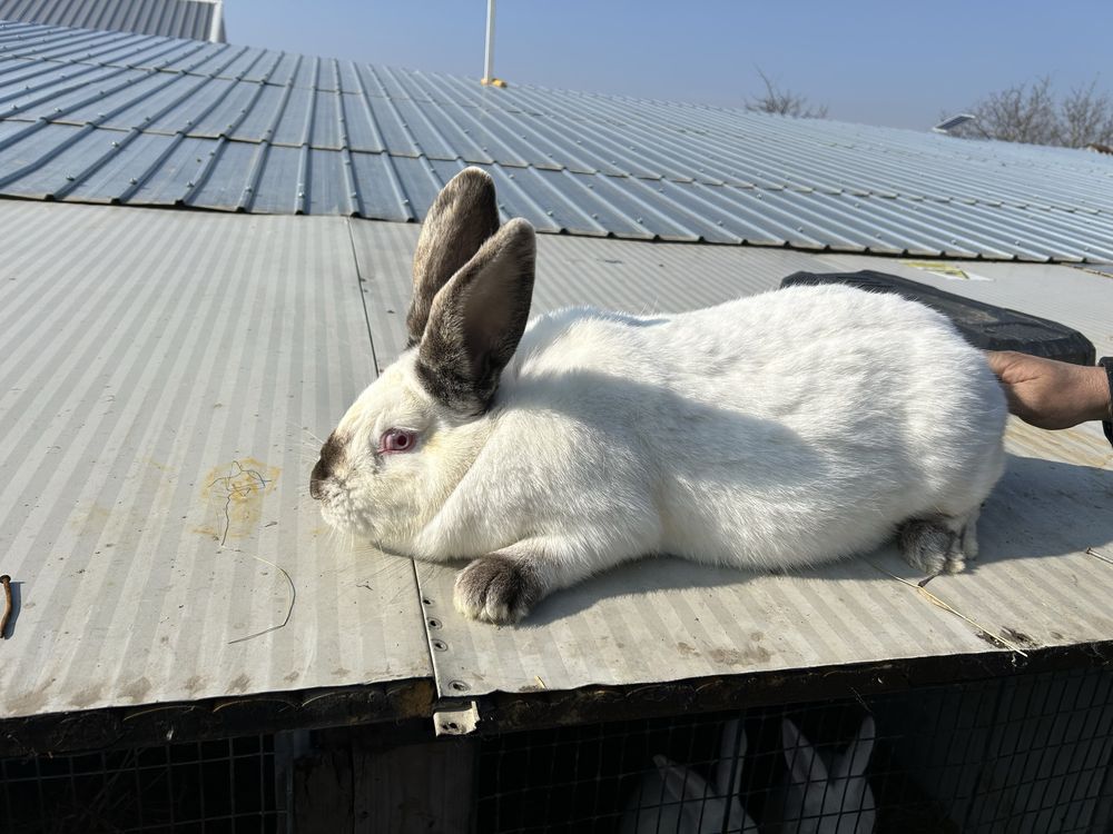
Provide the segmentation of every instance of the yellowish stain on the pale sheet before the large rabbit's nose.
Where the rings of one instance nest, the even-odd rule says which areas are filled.
[[[194,532],[211,536],[221,545],[229,538],[252,535],[262,518],[263,497],[274,492],[280,471],[253,457],[211,469],[201,483],[206,523]]]

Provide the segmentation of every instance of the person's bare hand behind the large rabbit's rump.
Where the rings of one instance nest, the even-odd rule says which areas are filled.
[[[1043,359],[1015,350],[987,350],[1008,410],[1038,428],[1070,428],[1110,419],[1110,383],[1104,368]]]

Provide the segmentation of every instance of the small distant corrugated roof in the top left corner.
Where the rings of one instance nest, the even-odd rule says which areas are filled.
[[[0,0],[0,20],[224,42],[223,0]]]

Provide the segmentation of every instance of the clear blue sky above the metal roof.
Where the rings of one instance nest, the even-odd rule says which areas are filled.
[[[485,0],[225,0],[233,43],[479,78]],[[846,121],[925,128],[1050,75],[1113,90],[1113,0],[500,0],[511,83],[741,106],[755,67]]]

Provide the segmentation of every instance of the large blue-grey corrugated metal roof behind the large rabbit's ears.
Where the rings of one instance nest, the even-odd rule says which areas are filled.
[[[541,231],[1113,260],[1113,159],[275,50],[0,28],[0,193],[421,219],[465,165]]]

